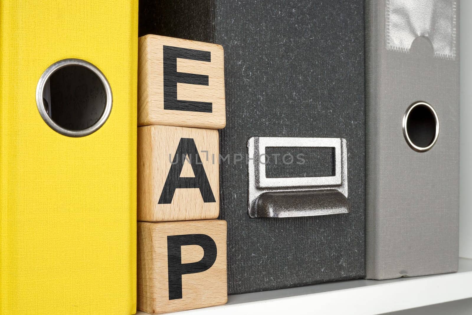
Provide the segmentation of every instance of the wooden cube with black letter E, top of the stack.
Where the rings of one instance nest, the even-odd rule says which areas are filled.
[[[138,125],[224,128],[223,47],[158,35],[140,37]]]

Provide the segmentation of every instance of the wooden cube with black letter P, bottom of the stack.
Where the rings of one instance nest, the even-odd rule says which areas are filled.
[[[137,308],[150,314],[225,304],[226,221],[138,222]]]

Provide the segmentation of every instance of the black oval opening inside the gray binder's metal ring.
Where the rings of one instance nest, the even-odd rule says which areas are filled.
[[[427,148],[436,138],[438,124],[430,107],[416,105],[406,117],[406,133],[410,141],[419,148]]]

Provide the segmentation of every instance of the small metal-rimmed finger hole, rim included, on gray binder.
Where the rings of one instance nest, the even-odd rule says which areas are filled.
[[[417,152],[430,150],[438,140],[439,120],[434,108],[426,102],[410,105],[402,121],[406,143]]]

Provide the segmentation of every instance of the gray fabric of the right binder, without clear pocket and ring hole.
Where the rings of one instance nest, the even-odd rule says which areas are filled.
[[[435,58],[426,37],[409,53],[388,51],[385,1],[368,0],[366,92],[367,278],[457,271],[459,56]],[[416,101],[432,105],[440,125],[435,146],[421,153],[402,132]]]

